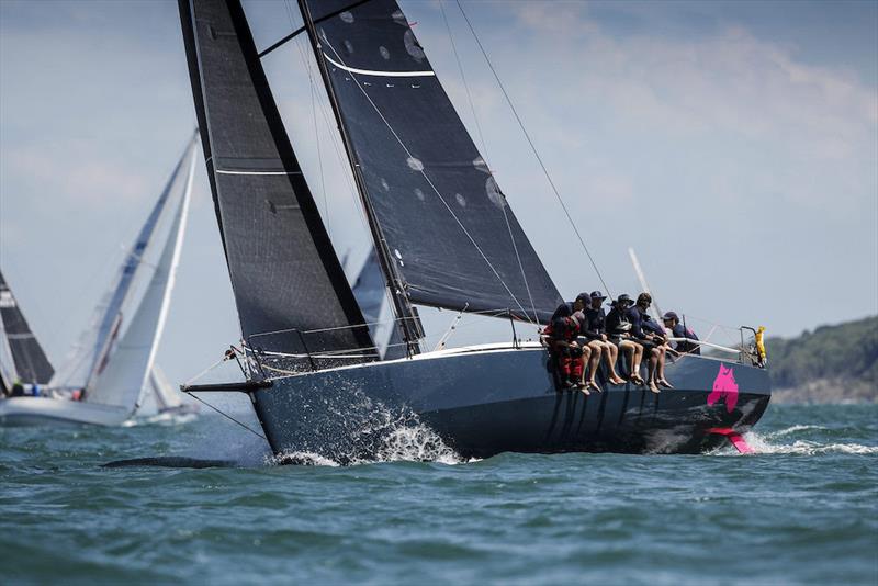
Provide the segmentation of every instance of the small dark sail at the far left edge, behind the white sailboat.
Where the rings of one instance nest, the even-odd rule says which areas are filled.
[[[55,374],[55,369],[52,368],[46,353],[31,331],[31,326],[19,308],[2,272],[0,272],[0,319],[2,319],[0,329],[5,336],[5,341],[0,340],[0,343],[8,345],[14,376],[22,383],[47,384]],[[4,370],[8,370],[8,367]],[[15,381],[7,382],[12,384]]]

